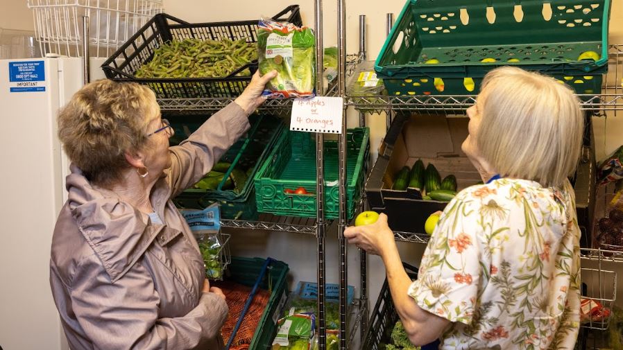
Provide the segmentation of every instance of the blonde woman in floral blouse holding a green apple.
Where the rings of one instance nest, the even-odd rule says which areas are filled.
[[[553,78],[502,67],[488,73],[467,114],[462,149],[485,184],[447,204],[416,281],[404,272],[384,214],[344,235],[382,257],[413,344],[573,349],[580,231],[567,177],[581,150],[579,100]]]

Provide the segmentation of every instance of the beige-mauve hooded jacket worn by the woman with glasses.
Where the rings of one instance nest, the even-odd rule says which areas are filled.
[[[72,167],[54,229],[50,284],[69,346],[82,349],[222,349],[228,307],[202,293],[199,247],[171,198],[192,186],[248,130],[232,103],[180,146],[153,187],[165,225]]]

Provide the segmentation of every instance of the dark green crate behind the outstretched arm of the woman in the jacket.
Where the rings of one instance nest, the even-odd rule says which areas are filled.
[[[197,116],[179,116],[171,118],[171,126],[176,130],[176,136],[171,139],[171,144],[186,139],[194,132],[204,119]],[[266,159],[273,145],[277,141],[284,125],[275,116],[253,114],[249,118],[250,130],[221,157],[220,161],[231,163],[232,168],[252,169],[241,191],[219,189],[214,191],[203,189],[187,189],[180,193],[173,202],[180,208],[204,209],[218,202],[221,205],[221,218],[237,220],[257,219],[255,207],[255,187],[253,177],[262,161]],[[225,179],[228,173],[225,174]],[[225,180],[223,180],[224,182]]]

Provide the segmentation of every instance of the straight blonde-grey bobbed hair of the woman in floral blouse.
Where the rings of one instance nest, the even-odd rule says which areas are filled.
[[[476,146],[500,175],[562,186],[580,157],[579,102],[554,78],[515,67],[490,71],[477,100]]]

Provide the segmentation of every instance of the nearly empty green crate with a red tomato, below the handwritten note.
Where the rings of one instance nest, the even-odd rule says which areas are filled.
[[[352,218],[364,185],[364,165],[368,159],[370,130],[349,129],[346,180],[347,216]],[[325,218],[339,217],[339,155],[337,141],[325,141]],[[285,193],[304,187],[312,194]],[[273,152],[255,175],[257,211],[284,216],[316,217],[315,134],[284,132]]]

